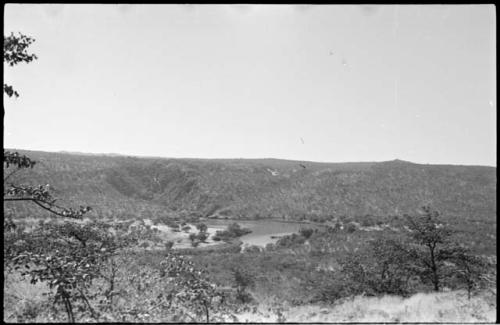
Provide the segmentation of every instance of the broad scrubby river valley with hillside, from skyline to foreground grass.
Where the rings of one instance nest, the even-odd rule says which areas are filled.
[[[403,161],[326,164],[21,153],[37,165],[17,171],[12,182],[49,183],[59,204],[88,204],[92,210],[81,220],[64,221],[31,202],[4,201],[4,212],[16,225],[6,233],[4,253],[18,261],[15,256],[25,256],[24,249],[31,247],[41,254],[36,256],[48,254],[63,261],[69,252],[80,254],[89,245],[108,247],[104,252],[113,255],[95,265],[95,280],[86,289],[88,295],[107,301],[102,307],[90,301],[101,310],[100,320],[188,321],[209,313],[211,321],[280,322],[303,321],[300,315],[307,313],[327,322],[374,317],[413,321],[424,312],[415,301],[439,305],[439,297],[455,297],[460,306],[440,305],[429,319],[494,317],[496,168]],[[297,168],[299,163],[306,168]],[[433,293],[433,282],[416,271],[425,264],[415,256],[424,256],[425,250],[419,242],[412,243],[415,230],[410,228],[416,227],[413,220],[425,222],[426,215],[439,217],[428,229],[446,229],[446,244],[440,244],[443,254],[447,249],[466,249],[482,261],[474,289],[464,291],[467,282],[447,269],[458,268],[461,260],[453,258],[461,255],[442,264],[439,292]],[[102,249],[92,254],[107,256]],[[30,298],[56,292],[50,286],[23,287],[25,280],[19,276],[38,272],[36,264],[25,263],[28,273],[4,271],[10,279],[7,302],[21,306],[20,301],[26,301],[29,308],[42,308],[36,316],[41,321],[63,320],[61,310],[42,312],[46,301]],[[187,273],[184,263],[191,265]],[[176,267],[180,269],[168,271]],[[385,273],[379,273],[384,268]],[[179,276],[162,282],[168,272]],[[193,282],[171,287],[188,281],[184,276],[194,277],[189,281],[196,285],[211,283],[203,299],[220,296],[226,302],[206,309],[208,300],[202,298],[181,303],[163,296],[192,294]],[[106,287],[115,288],[116,299],[103,291]],[[28,291],[16,293],[11,288]],[[464,298],[467,292],[473,293],[472,300]],[[359,303],[365,295],[366,302]],[[405,299],[408,308],[390,312],[394,299]],[[143,303],[152,307],[141,307]],[[175,310],[183,311],[172,314],[166,306],[173,303],[180,308]],[[27,313],[8,311],[16,317]],[[471,316],[483,312],[486,318]],[[97,316],[83,312],[79,317],[91,321]]]

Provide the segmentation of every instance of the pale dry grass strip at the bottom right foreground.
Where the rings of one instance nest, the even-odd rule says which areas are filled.
[[[398,296],[357,296],[333,306],[282,308],[265,303],[236,315],[242,322],[495,322],[496,297],[483,292],[469,301],[464,291]],[[281,319],[279,319],[281,317]]]

